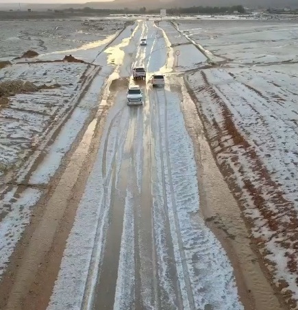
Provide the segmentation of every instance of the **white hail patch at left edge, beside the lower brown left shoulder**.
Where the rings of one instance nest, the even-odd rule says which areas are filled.
[[[0,216],[7,214],[0,223],[0,279],[10,261],[14,248],[29,224],[32,207],[41,196],[39,190],[28,188],[16,200],[16,188],[5,194],[1,200]]]

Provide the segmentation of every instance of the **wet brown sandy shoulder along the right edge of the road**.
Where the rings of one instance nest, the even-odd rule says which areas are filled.
[[[183,96],[186,126],[193,140],[198,167],[201,214],[227,251],[234,267],[240,299],[245,309],[286,309],[280,305],[281,300],[263,274],[260,259],[251,248],[238,203],[216,165],[197,108],[186,88]]]

